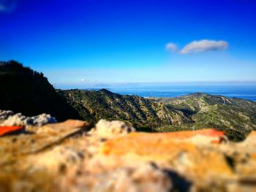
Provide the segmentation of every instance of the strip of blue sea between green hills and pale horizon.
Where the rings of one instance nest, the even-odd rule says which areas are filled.
[[[121,83],[102,85],[99,90],[106,88],[113,93],[122,95],[138,95],[143,97],[178,97],[189,93],[209,93],[240,99],[256,101],[256,83]]]

